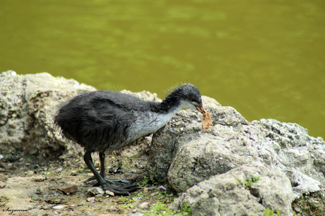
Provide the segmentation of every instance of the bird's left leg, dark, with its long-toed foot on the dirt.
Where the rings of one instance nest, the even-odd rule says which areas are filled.
[[[93,172],[95,175],[95,178],[97,179],[98,184],[102,187],[104,190],[109,190],[114,192],[116,195],[122,195],[122,196],[129,196],[132,191],[136,191],[140,189],[138,186],[134,184],[129,185],[121,185],[116,184],[116,182],[112,182],[109,179],[104,179],[96,170],[95,166],[93,165],[93,159],[91,158],[90,151],[86,151],[85,155],[83,155],[83,160],[85,160],[85,164],[88,166],[88,168]]]

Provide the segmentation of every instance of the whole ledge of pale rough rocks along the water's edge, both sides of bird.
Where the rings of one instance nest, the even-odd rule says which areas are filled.
[[[47,73],[13,71],[0,75],[0,88],[0,155],[82,160],[83,149],[62,139],[52,119],[61,103],[95,88]],[[160,100],[145,91],[134,95]],[[177,192],[171,208],[186,205],[193,215],[263,215],[267,208],[281,215],[322,215],[321,137],[309,136],[295,123],[248,122],[234,108],[202,98],[213,120],[208,131],[201,128],[201,113],[182,110],[154,134],[150,145],[148,177],[168,182]]]

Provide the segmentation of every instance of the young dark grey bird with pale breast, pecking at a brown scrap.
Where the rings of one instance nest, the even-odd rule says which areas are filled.
[[[139,138],[154,134],[179,110],[196,108],[204,113],[201,93],[193,84],[183,84],[161,102],[145,101],[116,91],[90,91],[67,101],[54,116],[61,135],[83,146],[83,160],[102,189],[129,196],[140,189],[128,179],[108,179],[105,152],[134,144]],[[100,173],[91,153],[98,152]]]

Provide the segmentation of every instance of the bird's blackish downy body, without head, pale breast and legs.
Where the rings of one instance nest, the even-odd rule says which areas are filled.
[[[62,106],[54,122],[66,138],[90,152],[113,150],[137,138],[128,129],[138,115],[150,109],[150,103],[119,92],[92,91]]]

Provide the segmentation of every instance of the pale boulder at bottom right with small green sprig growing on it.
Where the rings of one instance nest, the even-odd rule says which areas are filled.
[[[248,180],[259,180],[247,186]],[[291,215],[293,191],[279,170],[264,165],[243,165],[192,186],[174,204],[191,206],[193,215],[263,215],[265,207]]]

